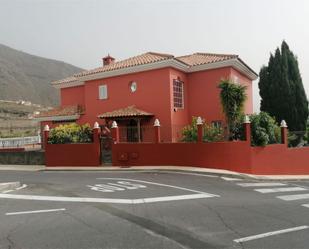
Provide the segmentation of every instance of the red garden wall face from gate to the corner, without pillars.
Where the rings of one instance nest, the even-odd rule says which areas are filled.
[[[114,166],[175,165],[250,172],[247,142],[119,143],[113,148]]]

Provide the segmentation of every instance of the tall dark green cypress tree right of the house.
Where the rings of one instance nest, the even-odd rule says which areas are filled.
[[[267,66],[260,70],[261,111],[278,123],[286,120],[289,130],[303,131],[308,118],[308,100],[296,56],[283,41],[281,51],[271,54]]]

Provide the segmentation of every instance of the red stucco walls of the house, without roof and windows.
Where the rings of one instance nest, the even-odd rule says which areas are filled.
[[[183,82],[183,108],[174,108],[173,80]],[[174,68],[130,73],[126,75],[85,81],[84,85],[61,88],[61,105],[80,105],[84,109],[78,123],[102,123],[99,114],[135,105],[153,113],[142,120],[142,126],[151,126],[158,118],[164,127],[163,141],[179,140],[180,130],[191,122],[192,116],[201,116],[207,122],[222,121],[218,83],[221,79],[235,80],[247,86],[245,112],[252,113],[252,81],[232,67],[185,73]],[[130,91],[130,82],[137,83],[137,90]],[[99,86],[106,85],[107,99],[99,99]]]

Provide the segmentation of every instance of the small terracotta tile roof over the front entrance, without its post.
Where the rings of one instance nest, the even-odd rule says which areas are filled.
[[[120,118],[120,117],[140,117],[140,116],[153,116],[152,113],[137,109],[134,105],[105,112],[98,116],[98,118]]]

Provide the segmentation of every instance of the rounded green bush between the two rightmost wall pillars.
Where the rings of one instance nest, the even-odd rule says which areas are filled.
[[[280,143],[281,131],[276,120],[266,112],[250,115],[251,143],[253,146],[266,146]]]

